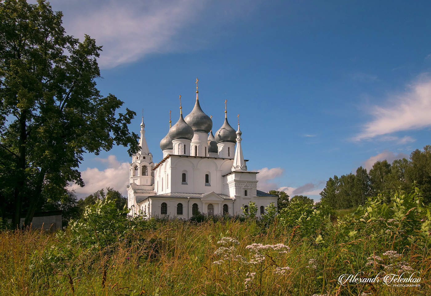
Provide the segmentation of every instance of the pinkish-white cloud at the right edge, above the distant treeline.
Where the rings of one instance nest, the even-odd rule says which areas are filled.
[[[386,106],[373,106],[373,119],[367,122],[353,140],[369,140],[378,136],[431,126],[431,79],[422,78],[409,86],[409,90],[394,94]],[[404,137],[401,141],[412,141]]]

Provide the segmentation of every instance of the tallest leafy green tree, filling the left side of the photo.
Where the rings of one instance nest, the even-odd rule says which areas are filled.
[[[2,215],[13,208],[28,225],[48,198],[69,182],[83,186],[78,166],[86,152],[112,145],[137,151],[127,125],[136,115],[96,88],[101,47],[65,33],[62,13],[38,0],[0,2],[0,184]]]

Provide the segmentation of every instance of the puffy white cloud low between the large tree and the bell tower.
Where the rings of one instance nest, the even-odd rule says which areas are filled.
[[[123,195],[127,195],[126,186],[129,184],[129,164],[120,163],[116,156],[110,155],[108,158],[98,158],[100,162],[106,163],[108,168],[100,171],[98,168],[87,168],[81,172],[81,178],[85,186],[79,187],[76,184],[68,189],[75,190],[78,197],[88,196],[99,189],[112,187]]]

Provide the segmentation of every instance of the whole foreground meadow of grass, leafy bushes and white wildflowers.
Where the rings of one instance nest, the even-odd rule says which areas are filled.
[[[250,205],[249,209],[253,209]],[[56,233],[0,234],[2,295],[429,295],[429,210],[415,187],[352,214],[292,202],[262,219],[125,216],[99,200]],[[420,287],[337,281],[420,272]],[[407,276],[408,277],[408,276]]]

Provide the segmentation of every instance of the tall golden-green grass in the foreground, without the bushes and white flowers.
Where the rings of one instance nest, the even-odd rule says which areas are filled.
[[[263,228],[256,221],[161,221],[156,227],[134,231],[115,243],[114,249],[71,246],[69,232],[55,235],[41,231],[4,231],[0,234],[1,295],[430,295],[431,256],[414,246],[402,254],[421,271],[421,287],[337,283],[340,274],[355,274],[370,254],[379,253],[371,239],[337,243],[337,229],[326,237],[328,246],[298,237],[296,229],[273,224]],[[254,288],[245,289],[253,267],[233,262],[234,277],[226,265],[215,265],[214,255],[222,237],[239,241],[235,254],[247,260],[252,243],[283,243],[290,247],[269,269],[288,266],[286,274],[265,272]],[[383,248],[390,246],[390,243]],[[381,255],[381,252],[379,253]],[[315,268],[313,261],[315,260]],[[269,270],[268,269],[268,270]],[[260,291],[260,292],[259,292]],[[363,294],[367,295],[367,294]]]

